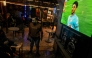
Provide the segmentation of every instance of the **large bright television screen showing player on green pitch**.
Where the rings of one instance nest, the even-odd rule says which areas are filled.
[[[92,0],[65,0],[61,23],[89,37],[92,35]]]

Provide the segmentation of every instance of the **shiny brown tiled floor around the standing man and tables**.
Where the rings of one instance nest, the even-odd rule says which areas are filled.
[[[54,27],[54,30],[56,27]],[[5,30],[5,29],[4,29]],[[51,43],[45,42],[48,39],[48,33],[46,30],[50,30],[50,28],[43,28],[43,39],[40,41],[40,57],[35,56],[35,50],[36,47],[34,46],[33,48],[33,55],[28,54],[29,48],[30,48],[30,42],[27,40],[28,36],[28,27],[25,27],[24,30],[24,37],[22,38],[22,34],[20,33],[19,35],[16,34],[15,39],[13,39],[13,32],[8,31],[6,36],[10,38],[11,40],[14,40],[15,43],[20,44],[23,43],[23,53],[21,58],[54,58],[54,53],[53,53],[53,43],[54,43],[54,38],[51,39]]]

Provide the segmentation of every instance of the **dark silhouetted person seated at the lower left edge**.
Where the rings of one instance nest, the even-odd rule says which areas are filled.
[[[4,52],[8,52],[11,57],[13,57],[13,53],[16,51],[16,49],[14,48],[11,48],[11,46],[15,46],[16,44],[14,44],[13,41],[9,40],[4,31],[1,29],[1,26],[0,26],[0,47],[1,47],[1,50],[4,51]]]

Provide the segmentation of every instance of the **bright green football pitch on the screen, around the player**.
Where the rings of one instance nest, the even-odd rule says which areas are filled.
[[[68,16],[71,14],[72,4],[76,0],[68,0],[65,5],[65,10],[62,13],[61,23],[67,24]],[[91,36],[92,35],[92,0],[77,0],[78,8],[76,15],[79,18],[79,32]]]

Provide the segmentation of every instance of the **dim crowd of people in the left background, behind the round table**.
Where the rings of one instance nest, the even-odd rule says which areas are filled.
[[[30,17],[24,17],[24,14],[19,10],[10,13],[7,12],[6,17],[4,14],[0,13],[0,25],[2,27],[13,27],[20,24],[28,25],[30,20]]]

